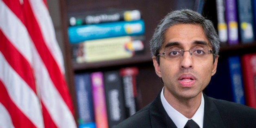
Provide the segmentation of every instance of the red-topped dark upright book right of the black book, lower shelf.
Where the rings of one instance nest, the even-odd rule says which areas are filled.
[[[137,86],[136,86],[136,75],[138,74],[137,67],[127,67],[120,69],[120,75],[124,86],[124,99],[127,117],[132,116],[137,112],[136,108],[136,97],[137,97]]]

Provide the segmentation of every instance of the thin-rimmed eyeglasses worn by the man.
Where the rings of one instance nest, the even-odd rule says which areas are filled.
[[[184,52],[185,51],[183,49],[169,49],[158,54],[157,56],[164,55],[166,59],[179,59],[181,56],[183,56]],[[194,58],[207,57],[209,53],[213,53],[213,51],[209,50],[208,48],[193,48],[188,50],[188,52],[190,53],[191,57]]]

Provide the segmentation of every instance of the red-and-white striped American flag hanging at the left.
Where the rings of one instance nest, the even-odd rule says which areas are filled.
[[[0,128],[76,128],[46,0],[0,0]]]

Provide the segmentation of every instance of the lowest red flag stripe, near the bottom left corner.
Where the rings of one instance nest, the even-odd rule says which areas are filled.
[[[13,126],[20,128],[36,128],[35,125],[20,111],[20,109],[12,102],[4,84],[0,80],[0,102],[8,110]]]

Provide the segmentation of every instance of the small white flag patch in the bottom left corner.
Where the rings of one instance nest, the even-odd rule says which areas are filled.
[[[0,128],[14,128],[8,111],[6,110],[6,108],[4,108],[4,106],[1,103],[0,112]]]

